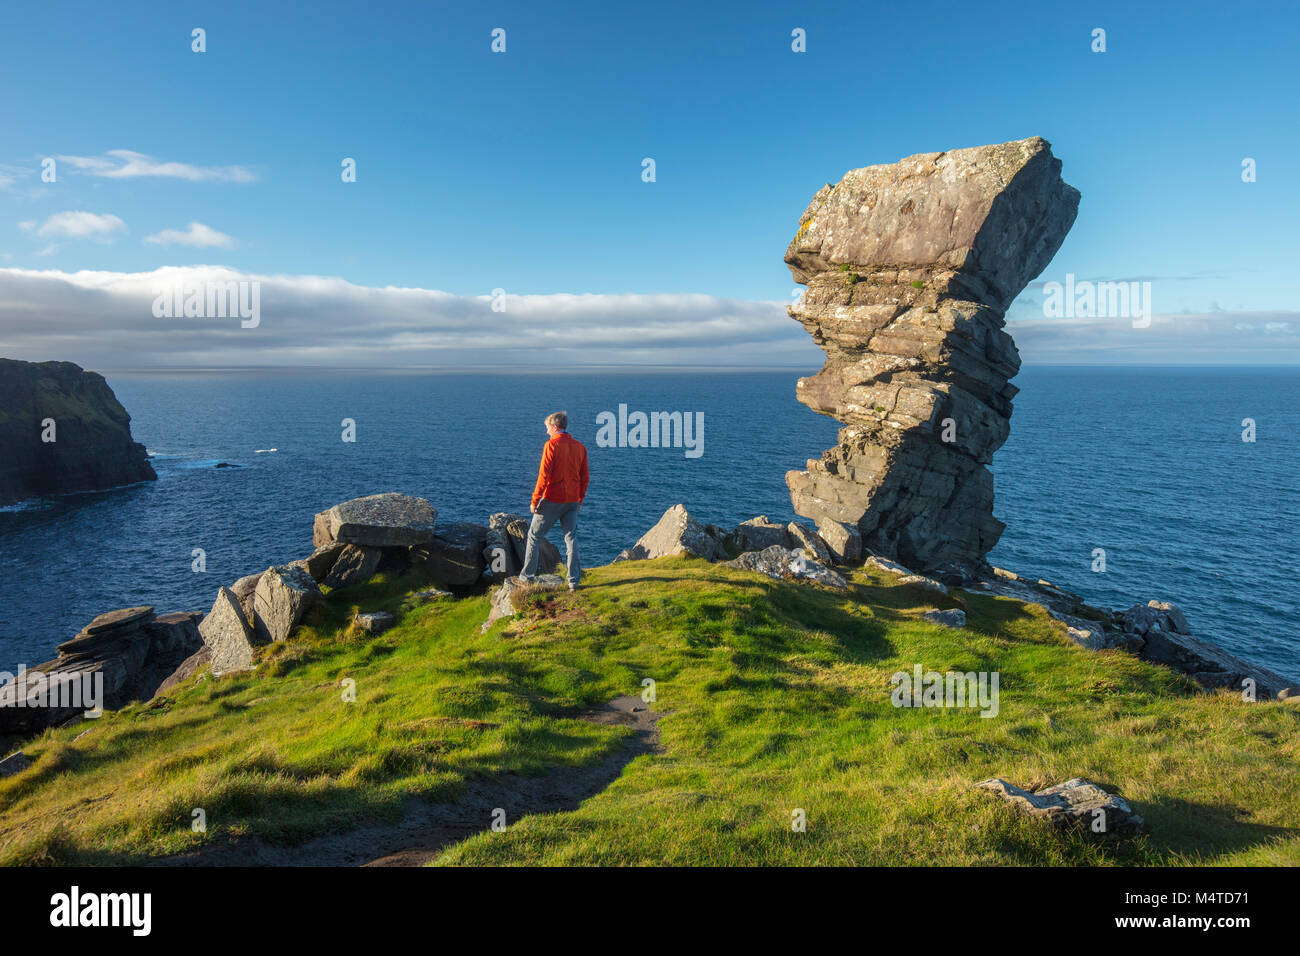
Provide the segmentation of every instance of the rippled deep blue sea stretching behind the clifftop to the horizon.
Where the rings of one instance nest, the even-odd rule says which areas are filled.
[[[159,480],[0,511],[0,669],[114,607],[207,611],[218,585],[308,554],[312,515],[346,498],[404,492],[447,522],[525,512],[558,408],[590,449],[589,566],[677,502],[728,527],[789,520],[786,470],[838,427],[794,401],[812,371],[110,372]],[[1300,675],[1300,369],[1040,367],[1015,384],[991,561],[1096,605],[1171,600],[1196,633]],[[703,412],[703,454],[598,447],[597,415],[620,405]]]

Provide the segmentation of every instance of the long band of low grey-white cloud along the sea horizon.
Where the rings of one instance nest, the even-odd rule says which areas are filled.
[[[159,317],[161,290],[257,282],[256,328]],[[246,286],[247,289],[247,286]],[[498,308],[504,304],[504,311]],[[1026,364],[1300,362],[1300,312],[1013,321]],[[140,367],[785,365],[820,350],[785,303],[712,295],[452,295],[221,267],[146,273],[0,269],[0,355]]]

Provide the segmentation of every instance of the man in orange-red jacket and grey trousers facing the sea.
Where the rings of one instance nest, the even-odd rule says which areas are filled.
[[[537,575],[540,538],[546,537],[555,522],[564,531],[566,570],[569,591],[577,591],[582,566],[577,559],[577,512],[586,497],[586,447],[568,433],[568,412],[558,411],[546,416],[546,445],[542,464],[537,470],[533,488],[533,523],[528,527],[528,546],[524,549],[524,570],[520,580],[530,581]]]

